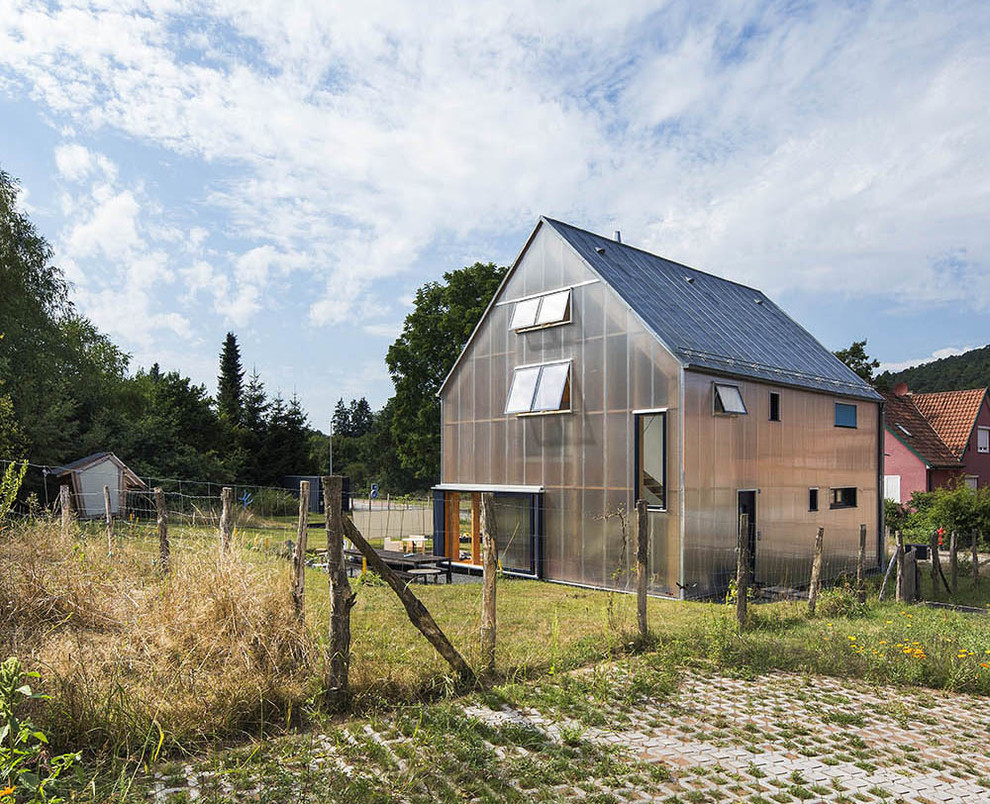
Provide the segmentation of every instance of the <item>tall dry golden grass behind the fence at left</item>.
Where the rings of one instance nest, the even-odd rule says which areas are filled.
[[[186,540],[163,578],[150,543],[108,559],[52,522],[2,537],[0,652],[43,671],[39,724],[61,745],[150,758],[296,718],[322,662],[288,569]]]

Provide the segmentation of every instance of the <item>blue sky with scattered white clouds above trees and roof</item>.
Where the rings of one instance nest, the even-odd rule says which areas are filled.
[[[0,0],[0,168],[79,310],[326,429],[540,215],[885,366],[990,342],[990,3]]]

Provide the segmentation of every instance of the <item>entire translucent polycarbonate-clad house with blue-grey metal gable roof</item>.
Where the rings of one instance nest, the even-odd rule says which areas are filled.
[[[653,594],[721,593],[741,514],[755,578],[880,561],[881,397],[763,293],[541,218],[443,383],[434,550],[630,588],[637,499]],[[462,522],[468,531],[462,545]],[[467,524],[470,523],[470,524]]]

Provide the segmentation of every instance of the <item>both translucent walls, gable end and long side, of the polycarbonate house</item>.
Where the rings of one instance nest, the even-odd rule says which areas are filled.
[[[566,323],[516,331],[520,301],[565,290]],[[523,312],[519,320],[539,315]],[[516,369],[542,373],[555,363],[568,371],[548,373],[540,405],[560,399],[564,410],[533,412],[536,373],[523,375],[508,404],[513,377],[521,382]],[[770,392],[779,421],[770,420]],[[856,406],[856,427],[835,426],[837,402]],[[507,404],[521,412],[505,413]],[[747,505],[746,492],[755,498],[764,586],[807,586],[818,527],[827,578],[855,567],[860,525],[868,563],[879,561],[879,405],[683,369],[549,225],[538,227],[448,378],[442,411],[438,494],[502,489],[541,499],[539,511],[506,505],[499,529],[513,534],[506,558],[518,567],[528,566],[526,527],[539,532],[533,566],[544,578],[633,588],[637,494],[651,506],[653,594],[724,592],[735,573],[740,492]],[[832,507],[835,488],[855,488],[856,505]]]

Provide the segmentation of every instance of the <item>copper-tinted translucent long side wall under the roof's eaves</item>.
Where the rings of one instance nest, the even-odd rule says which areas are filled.
[[[879,406],[844,399],[856,407],[858,426],[836,427],[835,396],[734,380],[747,413],[713,415],[716,379],[684,373],[685,594],[711,594],[735,574],[741,490],[756,491],[758,583],[807,586],[819,527],[826,578],[855,572],[860,525],[868,565],[876,566]],[[779,394],[779,421],[770,419],[771,391]],[[855,507],[833,508],[831,490],[849,487]]]

